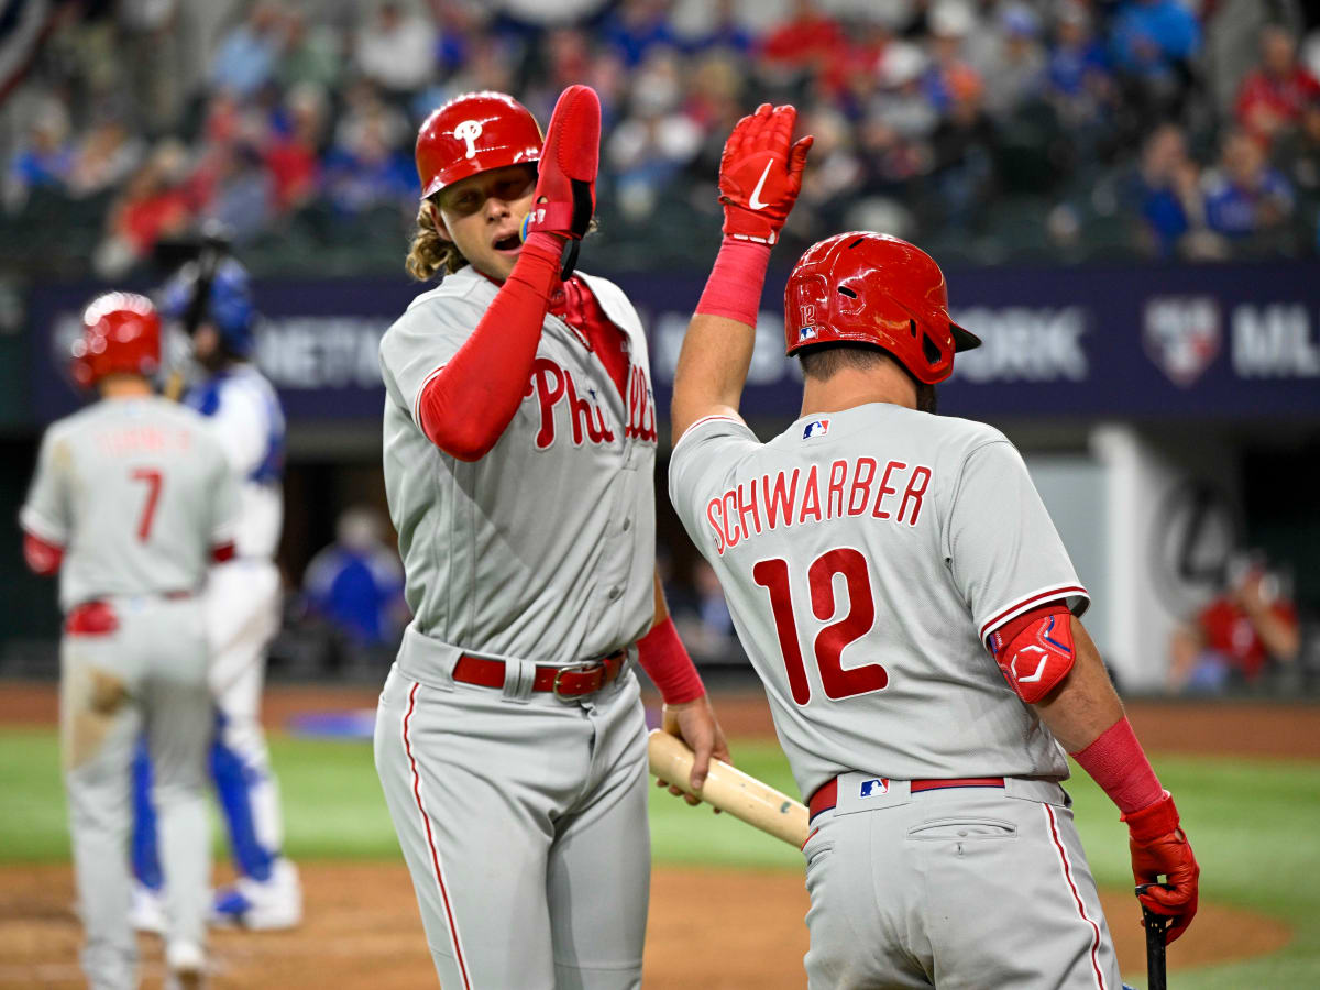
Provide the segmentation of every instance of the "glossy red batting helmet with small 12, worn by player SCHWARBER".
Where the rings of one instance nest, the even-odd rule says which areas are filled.
[[[917,381],[953,374],[953,354],[981,338],[949,319],[944,272],[935,259],[887,234],[851,231],[813,244],[784,289],[787,352],[818,343],[883,347]]]

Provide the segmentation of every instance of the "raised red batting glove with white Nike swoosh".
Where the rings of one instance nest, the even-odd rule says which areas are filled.
[[[797,110],[789,104],[756,107],[734,127],[719,158],[719,202],[725,234],[774,244],[803,187],[812,137],[793,140]]]

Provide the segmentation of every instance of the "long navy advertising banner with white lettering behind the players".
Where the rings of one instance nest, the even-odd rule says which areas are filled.
[[[795,418],[783,356],[787,271],[767,279],[743,411]],[[1320,267],[1304,263],[950,271],[953,317],[985,346],[958,355],[942,412],[973,416],[1255,420],[1320,416]],[[668,408],[704,273],[616,277],[651,335]],[[30,298],[32,418],[77,405],[65,376],[78,310],[100,286],[40,285]],[[420,286],[404,279],[257,281],[257,363],[289,417],[374,418],[376,347]]]

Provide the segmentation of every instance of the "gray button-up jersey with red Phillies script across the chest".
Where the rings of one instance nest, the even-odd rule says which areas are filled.
[[[546,315],[527,397],[473,463],[426,438],[417,397],[498,286],[463,268],[413,300],[380,342],[385,491],[412,627],[426,636],[564,664],[649,628],[656,429],[645,335],[618,286],[579,277],[627,334],[628,401],[577,331]]]

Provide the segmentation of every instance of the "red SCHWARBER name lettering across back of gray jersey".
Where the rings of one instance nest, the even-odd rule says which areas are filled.
[[[812,465],[739,482],[706,503],[706,520],[723,556],[758,533],[795,524],[870,515],[916,525],[929,487],[925,465],[888,461],[880,467],[871,457],[841,458],[828,469]]]

